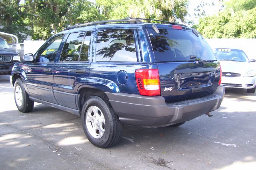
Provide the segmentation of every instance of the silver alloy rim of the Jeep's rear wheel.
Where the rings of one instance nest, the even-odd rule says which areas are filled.
[[[88,132],[94,138],[101,138],[105,132],[105,118],[102,111],[96,107],[88,108],[85,116],[86,127]]]

